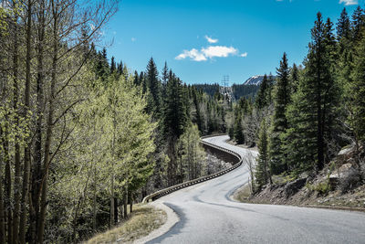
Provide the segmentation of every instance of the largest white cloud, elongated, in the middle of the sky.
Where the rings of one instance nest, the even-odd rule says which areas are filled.
[[[182,60],[190,58],[193,61],[206,61],[213,58],[227,58],[229,56],[247,57],[247,53],[239,54],[237,48],[225,47],[225,46],[209,46],[207,48],[201,48],[200,50],[193,48],[191,50],[183,50],[183,53],[179,54],[175,59]]]

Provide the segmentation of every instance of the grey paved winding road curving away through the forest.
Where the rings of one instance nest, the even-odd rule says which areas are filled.
[[[242,157],[257,153],[225,141],[203,139]],[[234,171],[163,196],[157,201],[180,217],[167,233],[148,243],[365,243],[365,214],[359,212],[252,205],[230,195],[249,177],[244,164]]]

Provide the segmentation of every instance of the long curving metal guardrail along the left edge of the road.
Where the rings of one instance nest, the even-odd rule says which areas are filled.
[[[186,182],[183,182],[183,183],[178,184],[178,185],[175,185],[175,186],[170,186],[170,187],[167,187],[167,188],[162,189],[160,191],[157,191],[155,193],[152,193],[151,195],[144,197],[142,203],[148,203],[150,200],[153,201],[153,200],[155,200],[155,199],[157,199],[157,198],[159,198],[161,196],[166,196],[166,195],[168,195],[168,194],[170,194],[170,193],[172,193],[174,191],[183,189],[183,188],[188,187],[188,186],[193,186],[193,185],[196,185],[198,183],[202,183],[204,181],[208,181],[208,180],[214,179],[214,178],[216,178],[218,176],[221,176],[221,175],[225,175],[225,174],[227,174],[227,173],[235,170],[239,166],[241,166],[241,164],[243,162],[243,159],[242,159],[242,157],[241,157],[240,154],[237,154],[234,151],[229,150],[229,149],[226,149],[224,147],[221,147],[221,146],[218,146],[218,145],[214,145],[213,143],[204,142],[202,140],[202,139],[205,139],[205,138],[209,138],[209,137],[213,137],[213,136],[219,136],[219,135],[224,135],[224,134],[214,134],[214,135],[203,136],[201,138],[201,143],[203,143],[203,144],[205,144],[207,146],[213,147],[215,149],[218,149],[220,151],[223,151],[225,153],[234,155],[238,159],[238,163],[232,165],[232,167],[230,167],[228,169],[224,169],[224,170],[219,171],[217,173],[214,173],[212,175],[206,175],[206,176],[203,176],[203,177],[200,177],[200,178],[191,180],[191,181],[186,181]]]

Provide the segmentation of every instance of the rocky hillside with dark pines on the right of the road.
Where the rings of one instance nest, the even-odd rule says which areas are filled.
[[[344,9],[336,27],[318,13],[303,65],[290,67],[284,53],[276,79],[264,78],[255,102],[234,105],[231,138],[258,145],[255,194],[295,180],[296,191],[307,182],[324,196],[364,184],[364,44],[360,6],[351,17]],[[347,161],[338,156],[344,148]]]

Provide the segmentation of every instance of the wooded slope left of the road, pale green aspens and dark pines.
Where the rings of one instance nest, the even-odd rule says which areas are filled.
[[[19,3],[0,8],[0,243],[78,242],[207,174],[199,138],[225,132],[223,95],[96,48],[118,1]]]

